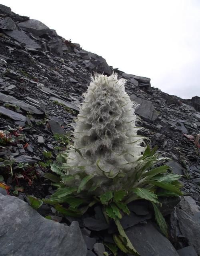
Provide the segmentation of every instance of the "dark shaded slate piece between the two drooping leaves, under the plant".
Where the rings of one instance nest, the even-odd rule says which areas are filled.
[[[129,215],[124,215],[121,218],[120,223],[124,230],[126,230],[127,228],[130,228],[140,222],[143,222],[144,220],[149,220],[150,218],[152,218],[152,214],[150,213],[147,215],[138,216],[134,212],[131,212]]]

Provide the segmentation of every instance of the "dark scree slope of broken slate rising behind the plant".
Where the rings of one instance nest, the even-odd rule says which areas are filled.
[[[115,71],[127,79],[126,92],[140,104],[137,114],[146,128],[142,134],[150,138],[151,146],[158,145],[162,156],[171,158],[167,164],[183,175],[185,195],[194,199],[192,204],[200,205],[200,144],[196,141],[195,146],[200,130],[198,96],[182,100],[161,92],[151,86],[150,78],[114,70],[101,56],[3,5],[0,59],[0,130],[4,131],[0,134],[0,182],[10,186],[11,194],[23,197],[20,192],[24,191],[42,198],[52,192],[50,182],[42,176],[49,170],[47,162],[65,148],[62,135],[71,129],[90,74]],[[20,172],[18,164],[27,162],[36,164]],[[176,249],[197,246],[175,237]]]

